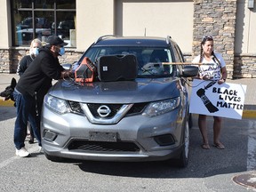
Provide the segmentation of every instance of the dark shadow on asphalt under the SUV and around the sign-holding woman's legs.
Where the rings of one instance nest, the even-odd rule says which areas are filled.
[[[211,149],[201,148],[202,138],[194,117],[190,130],[190,158],[187,168],[164,162],[73,162],[84,172],[138,178],[207,178],[247,171],[248,124],[250,120],[223,119],[221,141],[225,149],[212,146],[212,117],[207,119]],[[71,162],[70,162],[71,163]],[[169,162],[170,163],[170,162]]]

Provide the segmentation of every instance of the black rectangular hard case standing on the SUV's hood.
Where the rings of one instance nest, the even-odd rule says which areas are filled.
[[[137,77],[137,58],[133,54],[106,55],[98,60],[100,81],[125,81]]]

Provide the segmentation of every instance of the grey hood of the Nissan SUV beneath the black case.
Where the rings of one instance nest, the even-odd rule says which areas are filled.
[[[134,81],[76,83],[60,80],[48,92],[64,100],[86,103],[139,103],[180,96],[177,78],[137,78]]]

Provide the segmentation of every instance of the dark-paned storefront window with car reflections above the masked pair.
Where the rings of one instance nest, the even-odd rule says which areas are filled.
[[[76,47],[76,0],[12,0],[12,33],[14,46],[57,35]]]

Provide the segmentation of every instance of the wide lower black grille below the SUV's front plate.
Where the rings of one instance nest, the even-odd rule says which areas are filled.
[[[83,150],[95,152],[139,152],[140,148],[132,142],[101,142],[89,140],[72,140],[68,150]]]

